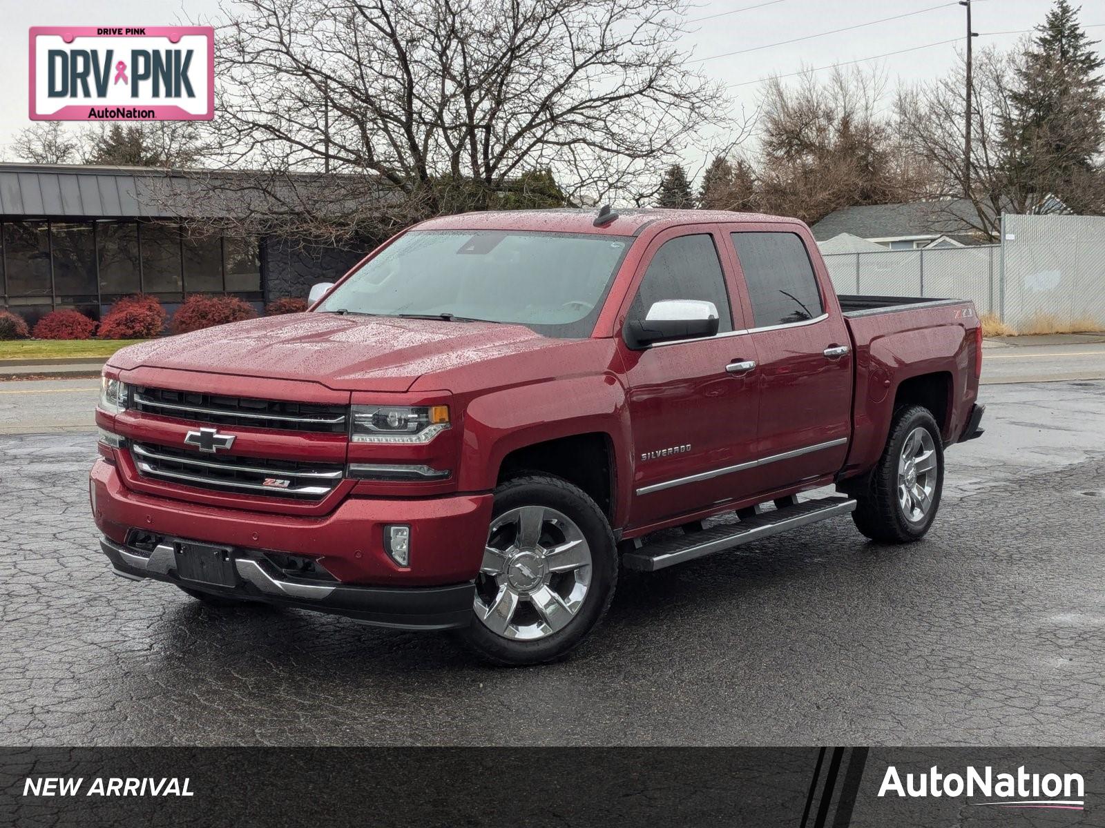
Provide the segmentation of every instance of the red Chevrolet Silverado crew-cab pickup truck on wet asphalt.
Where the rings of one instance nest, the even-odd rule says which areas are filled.
[[[620,565],[846,513],[919,539],[945,447],[981,434],[971,302],[836,296],[791,219],[454,215],[316,288],[112,358],[91,499],[117,574],[547,661]]]

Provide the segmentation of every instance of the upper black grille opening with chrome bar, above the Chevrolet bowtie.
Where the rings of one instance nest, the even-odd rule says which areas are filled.
[[[246,425],[295,432],[343,434],[345,405],[290,403],[250,396],[220,396],[193,391],[170,391],[139,385],[130,399],[135,411],[214,425]]]

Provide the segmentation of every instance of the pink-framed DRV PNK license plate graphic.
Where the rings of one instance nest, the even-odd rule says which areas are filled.
[[[32,26],[32,120],[211,120],[214,30]]]

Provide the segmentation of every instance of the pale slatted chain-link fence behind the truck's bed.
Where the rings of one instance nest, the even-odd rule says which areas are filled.
[[[841,294],[971,299],[1019,330],[1105,329],[1105,217],[1006,215],[1002,243],[824,257]]]

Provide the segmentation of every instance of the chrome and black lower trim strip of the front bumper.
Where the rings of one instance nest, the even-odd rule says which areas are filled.
[[[171,543],[145,552],[105,538],[99,546],[115,574],[130,580],[154,578],[212,595],[344,615],[397,629],[453,629],[467,626],[472,619],[472,582],[399,588],[308,582],[283,575],[263,555],[243,552],[234,556],[240,583],[221,587],[179,577]]]

